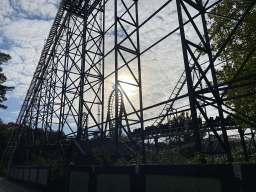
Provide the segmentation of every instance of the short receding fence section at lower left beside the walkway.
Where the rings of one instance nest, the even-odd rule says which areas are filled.
[[[50,179],[50,166],[18,166],[9,170],[8,176],[20,183],[46,190]]]

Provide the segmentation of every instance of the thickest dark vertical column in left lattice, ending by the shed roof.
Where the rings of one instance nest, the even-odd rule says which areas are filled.
[[[86,31],[87,31],[87,6],[88,0],[85,0],[84,5],[84,27],[83,27],[83,44],[82,44],[82,61],[81,61],[81,78],[80,78],[80,92],[79,92],[79,112],[78,112],[78,127],[76,140],[81,140],[83,128],[83,105],[84,105],[84,79],[85,79],[85,54],[86,54]],[[88,140],[88,130],[86,128],[86,140]]]

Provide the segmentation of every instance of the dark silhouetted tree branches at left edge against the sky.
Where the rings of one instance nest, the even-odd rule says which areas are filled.
[[[0,52],[0,65],[2,63],[6,63],[11,59],[11,56],[5,53]],[[3,85],[4,82],[7,80],[6,76],[2,73],[3,69],[0,67],[0,103],[3,101],[6,101],[7,98],[5,97],[5,94],[7,91],[12,91],[14,87],[8,87]],[[0,108],[7,109],[7,106],[0,104]]]

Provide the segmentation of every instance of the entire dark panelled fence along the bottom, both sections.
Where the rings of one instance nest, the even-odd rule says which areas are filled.
[[[70,165],[66,192],[247,192],[255,171],[255,164]],[[50,166],[12,167],[9,176],[46,190]]]

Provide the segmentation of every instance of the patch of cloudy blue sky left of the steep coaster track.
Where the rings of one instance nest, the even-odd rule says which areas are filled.
[[[60,0],[2,0],[0,6],[0,51],[12,59],[3,64],[6,85],[15,90],[7,93],[8,106],[0,110],[5,122],[15,122],[45,39],[58,10]]]

